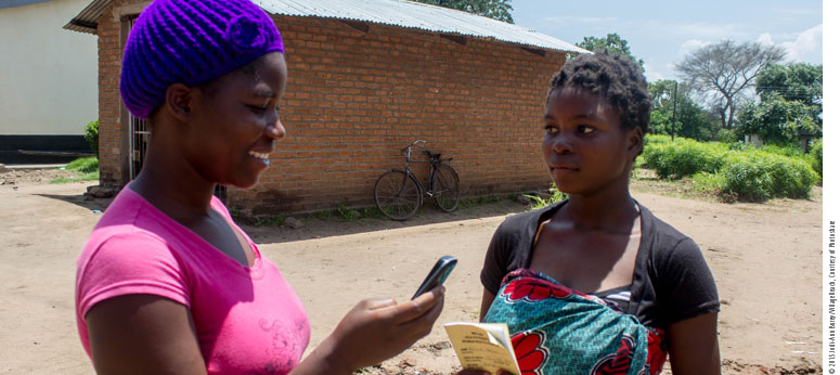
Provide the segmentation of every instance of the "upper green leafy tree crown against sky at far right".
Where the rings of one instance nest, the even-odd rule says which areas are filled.
[[[798,101],[812,106],[812,117],[823,124],[823,65],[790,63],[772,64],[755,77],[755,92],[762,102],[775,93],[786,101]]]

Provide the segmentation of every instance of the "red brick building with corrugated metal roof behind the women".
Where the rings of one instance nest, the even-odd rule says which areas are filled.
[[[254,215],[373,206],[377,177],[402,166],[400,148],[416,139],[454,157],[462,197],[547,186],[539,142],[548,80],[567,53],[585,51],[458,11],[377,1],[356,13],[344,12],[348,0],[312,0],[302,13],[284,0],[258,2],[286,44],[287,138],[257,186],[228,190],[229,206]],[[99,36],[105,186],[125,185],[142,163],[142,131],[129,137],[118,82],[122,43],[147,3],[95,0],[65,26]]]

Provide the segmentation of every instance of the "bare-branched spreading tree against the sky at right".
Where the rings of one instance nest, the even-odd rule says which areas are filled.
[[[755,76],[783,59],[785,51],[777,46],[722,40],[695,50],[675,68],[694,92],[709,101],[720,116],[721,127],[731,129],[736,107],[747,89],[754,86]]]

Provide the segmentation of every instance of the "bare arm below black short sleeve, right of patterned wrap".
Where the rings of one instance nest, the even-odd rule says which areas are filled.
[[[671,371],[674,375],[720,375],[718,313],[710,312],[668,327]]]

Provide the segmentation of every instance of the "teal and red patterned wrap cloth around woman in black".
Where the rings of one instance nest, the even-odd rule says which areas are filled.
[[[540,272],[508,273],[484,318],[507,323],[522,375],[656,375],[664,332]]]

